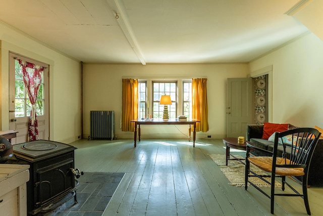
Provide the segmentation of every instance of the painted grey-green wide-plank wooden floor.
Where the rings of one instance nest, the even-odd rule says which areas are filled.
[[[136,148],[133,140],[71,145],[78,148],[75,166],[84,172],[126,172],[103,215],[272,215],[270,199],[253,187],[229,185],[208,156],[225,154],[221,139],[197,140],[195,148],[166,139],[141,140]],[[312,215],[323,215],[323,187],[308,194]],[[275,203],[276,215],[307,215],[299,197],[275,197]]]

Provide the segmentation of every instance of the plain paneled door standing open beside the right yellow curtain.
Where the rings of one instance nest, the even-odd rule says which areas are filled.
[[[227,137],[245,137],[252,122],[251,78],[228,78]]]

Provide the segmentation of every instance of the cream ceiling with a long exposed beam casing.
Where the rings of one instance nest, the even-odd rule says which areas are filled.
[[[0,0],[0,20],[85,63],[249,62],[308,31],[298,1]]]

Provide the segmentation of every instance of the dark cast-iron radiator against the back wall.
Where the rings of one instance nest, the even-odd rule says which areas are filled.
[[[89,140],[111,139],[115,133],[115,111],[90,111]]]

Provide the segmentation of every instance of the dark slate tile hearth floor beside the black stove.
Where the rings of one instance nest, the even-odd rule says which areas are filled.
[[[78,179],[79,185],[76,187],[78,203],[74,204],[74,198],[72,198],[63,205],[43,215],[101,216],[124,175],[123,172],[85,172]]]

